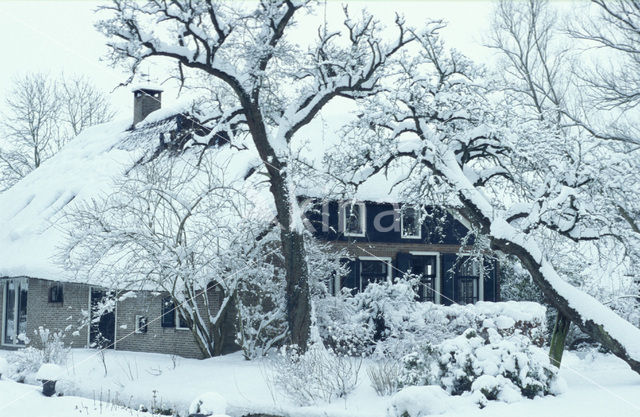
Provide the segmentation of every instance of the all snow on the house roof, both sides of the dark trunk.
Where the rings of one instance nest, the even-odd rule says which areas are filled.
[[[69,142],[58,154],[45,161],[9,190],[0,194],[0,277],[29,276],[53,280],[74,280],[55,258],[65,239],[61,226],[63,209],[72,201],[89,202],[113,192],[114,180],[135,166],[159,145],[161,133],[176,128],[177,114],[187,107],[178,104],[151,113],[131,129],[131,120],[91,127]],[[324,152],[339,144],[340,127],[353,117],[344,106],[332,107],[303,128],[292,144],[302,156],[321,167]],[[217,158],[231,161],[229,166],[243,178],[251,167],[260,166],[257,153],[249,149],[219,148]],[[401,170],[377,174],[357,191],[358,200],[399,202],[393,185]],[[262,177],[248,181],[251,199],[264,213],[273,213],[273,201]],[[260,178],[258,178],[260,177]],[[339,185],[331,181],[308,181],[294,192],[306,197],[335,196]]]

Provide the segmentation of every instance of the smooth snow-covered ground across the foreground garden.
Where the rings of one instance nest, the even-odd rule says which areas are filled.
[[[0,352],[5,356],[6,352]],[[345,401],[314,407],[295,407],[265,381],[264,361],[247,362],[239,354],[197,361],[130,352],[107,352],[105,364],[93,351],[73,350],[67,365],[67,395],[45,398],[36,386],[0,381],[0,416],[148,417],[150,414],[124,409],[140,404],[162,404],[182,415],[197,395],[215,391],[230,404],[228,413],[242,416],[265,411],[298,416],[384,417],[388,397],[374,392],[362,370],[361,383]],[[640,416],[640,376],[611,355],[566,353],[561,375],[567,390],[558,397],[523,400],[513,404],[492,402],[480,410],[454,397],[446,417],[603,417]],[[585,379],[587,378],[587,379]],[[102,399],[102,402],[100,401]]]

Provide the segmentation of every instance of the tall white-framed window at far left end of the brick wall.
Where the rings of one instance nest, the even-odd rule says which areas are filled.
[[[26,278],[2,281],[2,344],[24,345],[27,334],[27,293],[29,281]]]

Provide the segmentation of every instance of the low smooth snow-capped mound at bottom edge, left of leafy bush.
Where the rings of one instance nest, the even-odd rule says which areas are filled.
[[[429,385],[406,387],[391,398],[389,417],[426,417],[443,414],[451,408],[451,398],[442,388]]]

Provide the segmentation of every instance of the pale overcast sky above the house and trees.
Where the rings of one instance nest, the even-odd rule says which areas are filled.
[[[16,75],[27,71],[55,75],[64,71],[89,76],[101,90],[110,94],[120,114],[131,113],[133,99],[129,89],[111,92],[126,80],[127,74],[111,68],[103,60],[107,51],[105,38],[93,26],[101,15],[95,12],[98,4],[91,1],[0,1],[0,96],[6,94]],[[332,0],[327,2],[327,20],[340,19],[341,4]],[[482,42],[489,28],[492,2],[350,1],[349,5],[354,11],[366,5],[388,21],[397,11],[414,25],[427,19],[444,19],[449,26],[443,35],[450,46],[476,61],[491,59],[490,51],[482,46]],[[323,7],[319,13],[324,15]],[[310,36],[315,34],[315,25],[308,26]],[[152,75],[163,78],[162,74]],[[163,102],[174,99],[175,90],[168,88]]]

